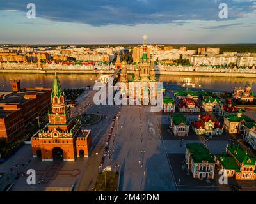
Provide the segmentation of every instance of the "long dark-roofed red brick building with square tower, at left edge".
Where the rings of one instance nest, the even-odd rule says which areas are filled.
[[[11,82],[14,92],[0,98],[0,138],[6,142],[24,133],[31,121],[51,108],[52,89],[20,89],[20,80]]]

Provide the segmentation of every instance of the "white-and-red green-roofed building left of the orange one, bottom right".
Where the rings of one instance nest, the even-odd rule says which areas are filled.
[[[193,178],[214,179],[214,156],[202,143],[186,144],[186,167],[191,170]]]

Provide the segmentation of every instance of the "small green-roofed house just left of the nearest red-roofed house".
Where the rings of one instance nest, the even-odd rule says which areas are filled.
[[[184,115],[172,115],[169,128],[174,136],[188,136],[189,123]]]

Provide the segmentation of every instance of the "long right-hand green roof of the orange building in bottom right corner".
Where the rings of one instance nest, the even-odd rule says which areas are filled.
[[[246,150],[242,150],[240,145],[227,145],[227,150],[234,156],[239,163],[244,165],[255,165],[256,159],[248,155]]]

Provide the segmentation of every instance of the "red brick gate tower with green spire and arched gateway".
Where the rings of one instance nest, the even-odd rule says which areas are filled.
[[[41,157],[42,161],[75,161],[77,157],[88,157],[92,145],[91,131],[82,130],[81,120],[71,117],[57,75],[51,103],[49,123],[31,138],[33,157]]]

